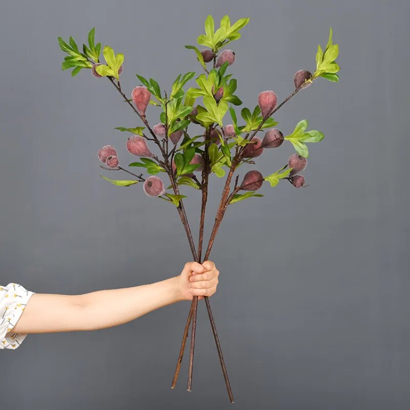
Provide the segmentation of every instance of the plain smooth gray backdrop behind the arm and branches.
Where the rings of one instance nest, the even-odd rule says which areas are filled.
[[[325,135],[311,145],[309,189],[262,188],[232,206],[212,259],[212,298],[238,409],[405,409],[408,325],[408,9],[404,1],[172,2],[19,0],[0,16],[0,283],[84,293],[176,275],[191,259],[175,209],[142,187],[98,177],[108,143],[127,163],[133,113],[104,79],[60,70],[58,35],[97,40],[134,73],[170,87],[200,71],[193,52],[207,14],[250,16],[232,48],[238,94],[279,99],[298,69],[314,70],[329,26],[340,44],[340,83],[322,79],[278,111],[290,133],[302,118]],[[157,122],[155,108],[149,120]],[[293,152],[265,152],[268,174]],[[243,173],[243,171],[242,171]],[[114,173],[106,173],[113,177]],[[212,179],[209,227],[221,180]],[[199,195],[189,192],[196,230]],[[183,362],[169,388],[189,303],[93,333],[33,335],[2,352],[0,395],[10,409],[228,408],[209,322],[198,317],[194,391]]]

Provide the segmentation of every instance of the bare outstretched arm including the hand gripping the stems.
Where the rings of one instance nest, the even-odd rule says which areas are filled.
[[[213,262],[187,263],[177,277],[135,288],[84,295],[34,294],[13,333],[51,333],[104,329],[193,296],[212,296],[218,284]]]

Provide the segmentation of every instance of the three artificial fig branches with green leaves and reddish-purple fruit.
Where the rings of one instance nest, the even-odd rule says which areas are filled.
[[[130,187],[141,183],[148,196],[173,204],[185,228],[192,256],[197,262],[209,258],[215,236],[229,206],[244,199],[263,196],[259,193],[259,189],[264,182],[270,187],[275,187],[281,180],[289,182],[296,188],[305,187],[305,179],[300,172],[306,167],[306,158],[309,156],[306,144],[319,142],[324,135],[317,130],[308,131],[308,121],[305,119],[299,121],[295,129],[286,135],[279,129],[273,128],[278,122],[272,115],[300,90],[311,86],[316,79],[322,77],[335,82],[339,79],[337,75],[339,66],[335,61],[339,47],[333,44],[332,29],[330,29],[329,40],[324,50],[320,45],[317,48],[314,73],[306,70],[297,71],[293,78],[292,92],[280,104],[278,104],[274,91],[262,91],[257,96],[257,105],[252,111],[249,108],[242,108],[240,114],[243,121],[238,122],[234,107],[242,105],[242,101],[235,95],[237,80],[232,78],[231,73],[228,73],[236,61],[236,55],[226,46],[240,38],[239,31],[248,23],[249,18],[240,18],[231,25],[230,18],[224,16],[220,21],[220,27],[215,31],[214,19],[209,15],[205,21],[205,34],[197,38],[197,43],[206,48],[200,51],[195,46],[185,46],[195,52],[199,68],[203,72],[197,75],[190,71],[178,75],[168,92],[161,90],[153,78],[148,80],[137,74],[141,84],[131,91],[131,98],[121,88],[120,83],[124,54],[115,54],[111,47],[105,46],[103,49],[105,64],[101,63],[101,43],[95,44],[94,28],[89,32],[88,45],[84,44],[81,51],[73,37],[70,37],[68,42],[58,37],[61,50],[68,54],[64,58],[63,70],[72,68],[72,76],[75,76],[83,69],[90,69],[94,77],[106,77],[142,123],[135,128],[118,127],[116,129],[132,134],[126,143],[127,150],[140,159],[140,161],[131,162],[128,167],[143,168],[150,176],[125,168],[119,162],[114,147],[107,145],[98,151],[98,159],[104,164],[100,167],[107,171],[125,172],[132,178],[110,179],[105,176],[103,178],[119,187]],[[196,77],[196,85],[185,91],[184,87],[194,77]],[[149,106],[159,111],[159,122],[153,126],[148,123],[146,117],[146,110]],[[231,120],[226,120],[228,111]],[[227,122],[232,122],[232,124],[227,124]],[[268,130],[262,137],[260,134],[266,129]],[[262,175],[254,169],[245,173],[241,179],[239,178],[237,171],[242,164],[255,165],[255,159],[265,150],[278,148],[284,141],[289,141],[296,151],[286,165],[270,175]],[[158,174],[164,176],[161,178]],[[212,232],[204,248],[203,232],[208,187],[210,176],[213,175],[217,178],[225,178],[225,182]],[[165,183],[165,179],[169,179],[169,183]],[[184,201],[187,195],[181,194],[182,186],[187,187],[184,189],[187,189],[187,192],[190,190],[192,195],[199,193],[202,198],[197,245],[185,211]],[[229,399],[234,402],[206,290],[203,296]],[[197,304],[198,297],[195,296],[183,330],[172,388],[177,382],[190,327],[188,391],[192,388]]]

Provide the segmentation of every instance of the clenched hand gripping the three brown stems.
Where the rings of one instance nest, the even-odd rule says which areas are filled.
[[[188,262],[178,276],[179,292],[186,300],[192,300],[194,296],[199,296],[199,299],[212,296],[216,292],[218,276],[214,262]]]

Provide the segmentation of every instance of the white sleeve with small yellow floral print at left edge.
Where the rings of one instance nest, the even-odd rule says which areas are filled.
[[[16,283],[0,286],[0,349],[16,349],[27,335],[12,333],[33,292]]]

